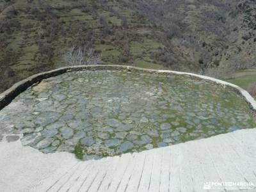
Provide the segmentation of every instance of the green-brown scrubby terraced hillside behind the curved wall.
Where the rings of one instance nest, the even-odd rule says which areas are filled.
[[[64,66],[72,45],[94,47],[104,64],[213,75],[253,67],[255,31],[255,0],[0,0],[0,92]]]

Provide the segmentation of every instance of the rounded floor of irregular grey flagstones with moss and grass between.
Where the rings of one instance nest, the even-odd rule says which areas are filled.
[[[0,111],[0,135],[21,134],[42,152],[99,159],[249,129],[256,119],[225,86],[191,77],[125,71],[45,79]]]

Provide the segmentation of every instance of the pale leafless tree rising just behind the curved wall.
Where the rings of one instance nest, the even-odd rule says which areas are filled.
[[[65,53],[67,65],[95,65],[100,63],[101,54],[95,52],[92,47],[76,47],[72,46]]]

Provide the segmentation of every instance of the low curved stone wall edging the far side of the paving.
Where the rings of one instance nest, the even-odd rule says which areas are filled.
[[[187,72],[177,72],[172,70],[154,70],[154,69],[147,69],[147,68],[131,67],[126,65],[81,65],[81,66],[74,66],[74,67],[63,67],[63,68],[58,68],[48,72],[35,74],[22,81],[19,81],[18,83],[13,84],[11,88],[9,88],[8,90],[0,94],[0,110],[3,109],[8,104],[10,104],[10,102],[12,102],[12,100],[15,99],[17,95],[24,92],[27,88],[29,88],[29,86],[35,83],[40,83],[40,81],[42,81],[43,79],[47,79],[49,77],[59,76],[61,74],[64,74],[65,72],[72,72],[72,71],[79,71],[79,70],[129,70],[129,71],[139,71],[139,72],[148,72],[148,73],[176,74],[176,75],[205,79],[207,81],[212,81],[214,83],[222,84],[223,86],[228,86],[229,88],[234,89],[237,93],[239,93],[244,97],[246,102],[250,104],[250,107],[252,108],[252,110],[254,112],[256,111],[256,101],[253,99],[253,97],[248,92],[246,92],[246,90],[243,90],[243,88],[235,84],[228,83],[226,81],[221,81],[220,79],[214,79],[212,77],[201,76],[198,74],[192,74]]]

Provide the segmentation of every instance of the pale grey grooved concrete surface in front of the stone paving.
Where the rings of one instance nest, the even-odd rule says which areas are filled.
[[[256,129],[140,153],[79,161],[72,154],[43,154],[20,141],[0,143],[0,189],[12,191],[240,191],[256,190]],[[208,186],[209,187],[209,186]]]

